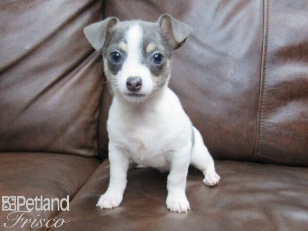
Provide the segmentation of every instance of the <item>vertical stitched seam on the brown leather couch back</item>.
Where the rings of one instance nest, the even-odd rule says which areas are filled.
[[[261,137],[261,120],[262,120],[262,106],[263,106],[263,89],[265,83],[266,71],[266,55],[267,55],[267,38],[268,38],[268,0],[263,1],[263,41],[262,41],[262,57],[261,57],[261,76],[259,88],[259,102],[258,114],[256,119],[256,132],[255,132],[255,148],[253,153],[253,161],[257,159],[259,153],[259,144]]]

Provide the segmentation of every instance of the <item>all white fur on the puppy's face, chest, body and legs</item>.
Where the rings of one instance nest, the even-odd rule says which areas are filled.
[[[208,186],[216,185],[220,177],[215,172],[214,161],[200,132],[196,128],[191,129],[190,120],[177,95],[167,87],[167,83],[151,94],[151,73],[148,67],[139,62],[141,27],[131,26],[126,36],[128,56],[117,76],[119,91],[114,91],[107,121],[110,182],[97,206],[119,206],[127,183],[129,164],[134,162],[170,171],[167,179],[167,208],[179,213],[187,212],[190,207],[185,187],[189,163],[203,172],[203,182]],[[141,90],[146,94],[143,100],[137,101],[126,96],[126,79],[129,76],[141,76]]]

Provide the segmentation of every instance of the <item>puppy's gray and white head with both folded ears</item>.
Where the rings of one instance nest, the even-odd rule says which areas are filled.
[[[95,50],[102,50],[113,91],[129,102],[142,102],[167,84],[172,51],[183,45],[191,29],[163,14],[156,23],[108,17],[84,32]]]

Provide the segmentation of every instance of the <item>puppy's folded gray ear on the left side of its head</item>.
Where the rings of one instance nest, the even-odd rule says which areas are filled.
[[[119,22],[116,17],[107,17],[104,21],[93,23],[84,29],[84,33],[92,47],[100,51],[112,27]]]

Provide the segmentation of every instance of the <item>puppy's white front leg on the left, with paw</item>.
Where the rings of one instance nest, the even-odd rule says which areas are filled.
[[[121,150],[109,142],[110,181],[105,194],[97,204],[100,208],[118,207],[123,199],[127,183],[129,159]]]

